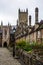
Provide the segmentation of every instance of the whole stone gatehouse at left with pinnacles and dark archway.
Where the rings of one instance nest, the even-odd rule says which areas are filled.
[[[10,43],[10,34],[11,34],[12,27],[9,25],[3,25],[3,22],[1,22],[0,25],[0,46],[9,46]]]

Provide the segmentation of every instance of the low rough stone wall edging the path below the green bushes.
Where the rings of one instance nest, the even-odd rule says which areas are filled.
[[[16,49],[16,55],[25,63],[25,65],[42,65],[43,62],[39,61],[38,56],[28,54],[22,49]]]

